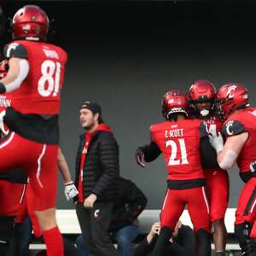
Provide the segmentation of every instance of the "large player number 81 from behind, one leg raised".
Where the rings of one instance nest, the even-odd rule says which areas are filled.
[[[46,43],[49,18],[43,9],[26,5],[13,18],[13,38],[3,55],[9,72],[0,94],[12,92],[11,108],[0,119],[11,130],[0,142],[0,172],[22,168],[30,178],[33,207],[49,256],[62,256],[63,243],[55,219],[58,114],[67,53]]]

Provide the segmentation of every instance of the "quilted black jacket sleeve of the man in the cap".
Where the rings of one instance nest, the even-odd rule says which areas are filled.
[[[102,177],[96,183],[91,193],[102,195],[119,177],[119,147],[111,134],[105,134],[99,147],[102,162]]]

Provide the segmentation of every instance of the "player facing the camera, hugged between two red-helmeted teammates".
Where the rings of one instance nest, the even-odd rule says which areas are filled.
[[[207,130],[212,134],[218,134],[221,131],[223,122],[215,114],[214,100],[216,89],[214,85],[207,80],[197,80],[189,88],[189,104],[192,107],[192,116],[195,119],[201,119],[207,125]],[[209,157],[203,161],[212,161],[212,152]],[[210,218],[213,226],[213,241],[215,245],[215,254],[224,256],[226,244],[226,228],[224,216],[228,207],[229,181],[228,174],[219,166],[213,168],[204,167],[206,177],[206,189],[210,204]]]

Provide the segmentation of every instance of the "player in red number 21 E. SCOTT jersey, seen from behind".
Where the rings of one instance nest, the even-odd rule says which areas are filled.
[[[196,255],[211,254],[210,217],[205,177],[201,167],[200,144],[205,137],[201,120],[187,119],[188,97],[181,90],[169,90],[163,98],[166,122],[150,127],[151,143],[137,148],[137,163],[143,165],[163,154],[168,180],[166,197],[160,213],[160,236],[153,255],[164,255],[178,218],[187,205],[198,241]]]

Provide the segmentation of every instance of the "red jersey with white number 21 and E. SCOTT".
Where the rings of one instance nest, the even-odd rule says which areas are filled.
[[[201,120],[166,121],[151,126],[151,136],[162,151],[170,180],[204,178],[200,154]]]

